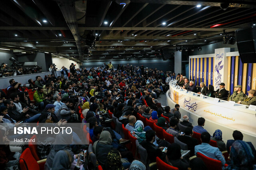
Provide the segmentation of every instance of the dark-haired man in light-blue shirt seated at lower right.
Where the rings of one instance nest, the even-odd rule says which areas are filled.
[[[224,156],[220,152],[220,150],[216,147],[212,147],[211,145],[209,145],[209,142],[211,140],[210,133],[203,132],[201,134],[201,140],[202,140],[202,144],[195,146],[195,155],[197,154],[197,152],[200,152],[201,154],[204,154],[209,158],[220,160],[222,163],[222,166],[224,166],[226,161]]]

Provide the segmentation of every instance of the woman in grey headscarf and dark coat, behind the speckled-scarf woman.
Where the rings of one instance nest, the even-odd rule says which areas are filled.
[[[108,131],[102,131],[100,133],[100,139],[93,144],[93,151],[99,164],[103,169],[107,169],[106,160],[108,153],[113,149],[112,137]]]

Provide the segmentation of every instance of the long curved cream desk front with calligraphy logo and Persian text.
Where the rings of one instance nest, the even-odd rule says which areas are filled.
[[[169,96],[180,107],[191,113],[256,136],[256,111],[250,111],[245,107],[241,109],[238,104],[235,104],[234,107],[229,107],[226,102],[215,103],[214,98],[207,97],[202,99],[197,94],[186,93],[184,90],[180,91],[173,86],[170,86]]]

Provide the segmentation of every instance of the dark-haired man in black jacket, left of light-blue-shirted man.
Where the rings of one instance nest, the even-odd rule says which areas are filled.
[[[194,156],[195,146],[198,145],[198,141],[196,138],[192,138],[194,132],[191,127],[186,127],[184,133],[185,135],[179,135],[178,139],[179,141],[188,145],[188,150],[190,150],[190,156]]]

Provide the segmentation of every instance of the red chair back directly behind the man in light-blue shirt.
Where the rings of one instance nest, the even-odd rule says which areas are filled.
[[[198,158],[202,158],[208,170],[222,170],[222,164],[220,160],[209,158],[200,152],[197,152],[196,156]],[[228,166],[228,164],[225,164],[225,167],[226,166]]]

